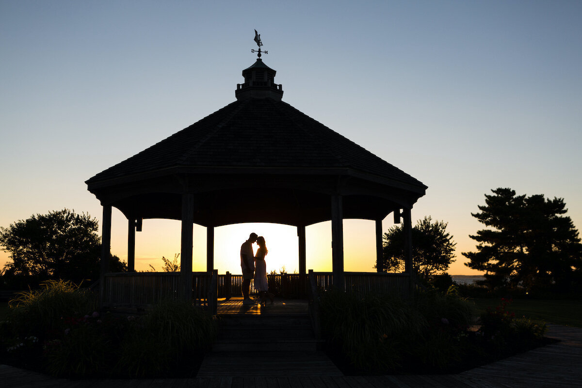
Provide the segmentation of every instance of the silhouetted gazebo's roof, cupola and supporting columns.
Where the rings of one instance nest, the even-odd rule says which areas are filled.
[[[101,280],[109,272],[103,258],[111,254],[115,207],[128,220],[130,271],[142,220],[181,220],[181,276],[176,281],[186,297],[193,288],[193,223],[207,228],[208,273],[214,266],[215,227],[242,222],[296,226],[299,273],[305,274],[305,228],[331,220],[332,282],[342,289],[342,220],[375,220],[381,255],[382,220],[390,213],[395,222],[403,219],[407,231],[405,272],[413,286],[410,212],[427,186],[283,102],[275,74],[259,55],[243,70],[235,102],[86,181],[103,207]]]

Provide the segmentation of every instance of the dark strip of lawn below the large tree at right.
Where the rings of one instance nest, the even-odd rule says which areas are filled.
[[[487,307],[495,309],[499,299],[471,299],[479,314]],[[525,316],[536,322],[556,323],[558,325],[582,328],[582,300],[531,300],[514,299],[508,304],[508,311],[516,317]]]

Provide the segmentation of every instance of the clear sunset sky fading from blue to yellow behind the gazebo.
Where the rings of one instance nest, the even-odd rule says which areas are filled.
[[[0,226],[62,208],[101,220],[84,181],[235,101],[253,29],[283,101],[428,186],[413,222],[448,222],[450,274],[478,274],[460,252],[491,189],[564,198],[582,227],[578,0],[0,0]],[[344,225],[345,269],[373,271],[374,222]],[[250,232],[268,270],[297,269],[294,227],[240,224],[215,230],[219,272],[240,273]],[[125,260],[115,209],[112,233]],[[205,241],[195,226],[194,270]],[[179,251],[179,221],[144,220],[137,269]],[[331,270],[329,222],[307,227],[307,268]]]

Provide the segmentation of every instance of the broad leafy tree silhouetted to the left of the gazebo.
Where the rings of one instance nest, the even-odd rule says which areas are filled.
[[[101,242],[97,220],[69,209],[32,215],[9,227],[0,227],[2,250],[10,252],[5,275],[61,278],[80,282],[97,279]],[[127,270],[119,258],[109,258],[112,272]]]

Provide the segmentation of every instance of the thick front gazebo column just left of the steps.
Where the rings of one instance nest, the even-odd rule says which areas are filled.
[[[194,224],[194,194],[182,194],[182,247],[180,250],[180,273],[182,273],[185,300],[192,297],[192,233]]]

